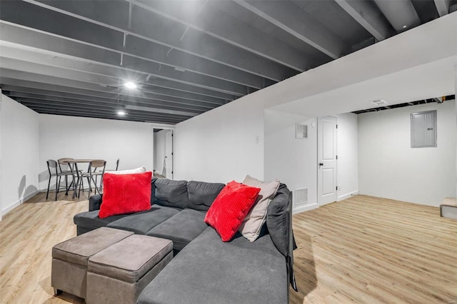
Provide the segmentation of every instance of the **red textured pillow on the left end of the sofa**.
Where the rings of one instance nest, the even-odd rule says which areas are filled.
[[[151,209],[152,172],[103,176],[99,218]]]

